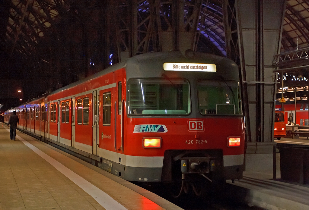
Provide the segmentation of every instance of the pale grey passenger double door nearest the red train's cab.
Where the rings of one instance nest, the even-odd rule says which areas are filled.
[[[99,90],[95,90],[92,93],[92,113],[93,113],[93,120],[92,120],[92,154],[99,155]]]

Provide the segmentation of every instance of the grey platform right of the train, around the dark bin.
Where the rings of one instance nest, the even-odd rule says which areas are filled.
[[[306,137],[299,139],[281,138],[275,140],[281,144],[309,145]],[[309,160],[308,160],[309,161]],[[280,170],[276,171],[273,180],[273,171],[243,172],[243,179],[226,180],[225,196],[236,199],[249,205],[270,210],[309,210],[309,184],[299,184],[280,179]]]

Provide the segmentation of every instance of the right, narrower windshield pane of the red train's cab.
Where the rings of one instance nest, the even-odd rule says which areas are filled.
[[[201,114],[242,114],[239,82],[202,80],[197,83],[197,91]]]

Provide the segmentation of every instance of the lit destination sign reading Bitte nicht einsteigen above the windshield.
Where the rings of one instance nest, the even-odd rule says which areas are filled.
[[[215,64],[196,64],[196,63],[164,63],[165,71],[189,71],[189,72],[216,72]]]

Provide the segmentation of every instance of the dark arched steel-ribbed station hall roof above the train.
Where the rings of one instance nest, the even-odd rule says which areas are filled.
[[[162,31],[169,30],[173,21],[171,1],[142,0],[133,6],[130,2],[2,1],[0,49],[2,57],[9,60],[6,65],[10,67],[6,71],[9,68],[18,71],[24,80],[24,86],[29,90],[49,91],[118,62],[119,56],[116,57],[115,49],[120,47],[121,51],[126,52],[132,45],[129,15],[134,6],[138,10],[135,17],[138,19],[135,26],[138,36],[137,51],[160,51],[157,45],[160,37],[158,38],[156,31],[159,28]],[[195,8],[193,2],[184,0],[184,27],[192,27],[191,14],[193,10],[199,9],[195,50],[226,56],[222,1],[202,0],[200,8]],[[308,8],[309,2],[306,0],[287,0],[281,53],[308,47]],[[153,13],[156,15],[151,16]],[[153,17],[157,18],[157,22],[152,20]],[[149,24],[151,21],[154,24]],[[114,23],[119,31],[115,30]],[[149,38],[150,34],[152,39]],[[121,40],[119,45],[115,36],[119,36],[117,40]]]

